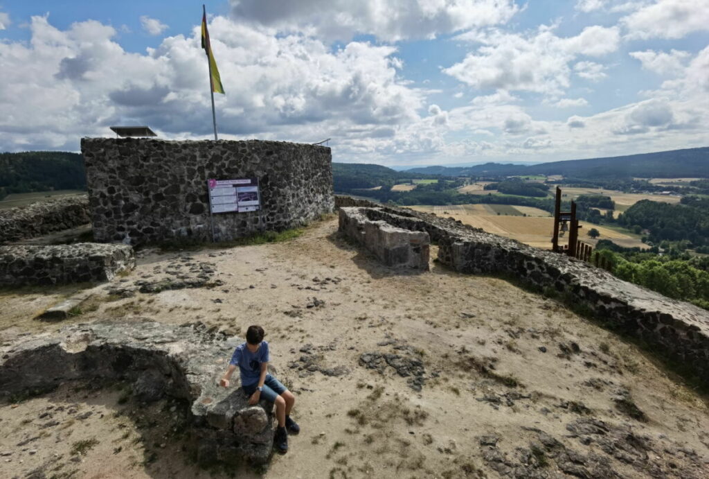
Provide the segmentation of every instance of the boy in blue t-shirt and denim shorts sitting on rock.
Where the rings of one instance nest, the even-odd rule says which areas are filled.
[[[268,373],[268,342],[263,340],[264,329],[261,326],[249,326],[246,331],[246,342],[236,347],[229,368],[219,384],[229,387],[229,380],[234,370],[239,367],[241,387],[249,396],[249,404],[257,404],[259,400],[276,403],[278,429],[274,445],[280,452],[288,451],[288,433],[298,434],[301,428],[291,419],[291,409],[296,397],[276,378]]]

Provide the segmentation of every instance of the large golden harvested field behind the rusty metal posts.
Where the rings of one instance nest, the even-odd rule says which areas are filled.
[[[510,207],[510,205],[499,204],[461,204],[449,205],[445,207],[438,206],[415,206],[411,209],[416,211],[425,211],[439,216],[449,217],[460,220],[465,224],[469,224],[474,228],[481,228],[488,233],[493,233],[499,236],[504,236],[513,240],[520,241],[535,248],[548,249],[552,241],[552,229],[554,220],[551,216],[512,216],[498,215],[490,212],[490,207]],[[514,209],[527,207],[510,207]],[[536,208],[535,208],[536,209]],[[494,211],[494,210],[493,210]],[[538,210],[542,211],[542,210]],[[547,213],[546,211],[543,211]],[[547,214],[548,215],[548,214]],[[614,243],[618,243],[625,248],[647,248],[640,241],[637,235],[625,233],[617,229],[606,228],[596,224],[586,223],[581,221],[582,229],[579,231],[579,239],[586,243],[595,245],[597,241],[588,238],[587,231],[591,228],[597,229],[601,236],[598,239],[610,239]],[[562,240],[563,241],[563,240]]]

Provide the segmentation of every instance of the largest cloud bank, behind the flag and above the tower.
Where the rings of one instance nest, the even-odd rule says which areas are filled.
[[[96,21],[62,31],[35,16],[30,32],[29,43],[0,43],[0,149],[23,149],[32,131],[35,148],[76,150],[82,136],[103,136],[126,119],[168,138],[211,130],[199,27],[189,37],[165,38],[147,55],[126,52],[113,41],[116,31]],[[227,92],[216,97],[226,138],[317,141],[352,126],[361,126],[363,137],[380,128],[391,136],[392,128],[420,119],[425,93],[398,77],[396,48],[351,42],[332,50],[314,38],[272,35],[223,17],[213,18],[210,33]],[[428,131],[406,138],[412,150],[437,141]],[[378,147],[354,134],[342,143],[350,151]]]

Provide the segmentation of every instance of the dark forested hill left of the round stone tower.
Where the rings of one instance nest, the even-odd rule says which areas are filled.
[[[0,153],[0,198],[50,189],[86,189],[82,155],[62,151]]]

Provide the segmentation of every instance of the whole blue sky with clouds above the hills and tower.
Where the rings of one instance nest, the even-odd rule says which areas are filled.
[[[167,6],[169,5],[169,7]],[[705,0],[207,1],[220,138],[384,165],[709,145]],[[208,138],[201,3],[0,0],[0,150]]]

